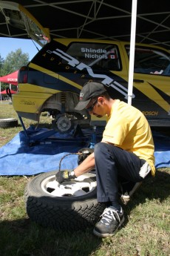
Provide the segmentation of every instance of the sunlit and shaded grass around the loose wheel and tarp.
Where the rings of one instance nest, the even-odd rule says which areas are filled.
[[[0,118],[17,118],[13,105],[2,103]],[[50,124],[47,114],[41,116]],[[26,128],[32,123],[24,119]],[[0,128],[0,146],[19,131]],[[24,187],[32,177],[0,177],[1,256],[169,256],[170,168],[159,168],[124,206],[126,221],[114,237],[99,239],[92,229],[58,232],[33,223],[24,206]]]

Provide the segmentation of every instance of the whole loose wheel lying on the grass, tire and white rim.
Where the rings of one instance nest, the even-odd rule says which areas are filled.
[[[97,202],[95,174],[84,174],[60,185],[55,181],[56,172],[40,174],[27,184],[24,197],[30,219],[58,230],[75,231],[93,226],[106,207]],[[76,186],[84,188],[76,191]],[[72,193],[75,189],[73,194],[69,187],[73,187]]]

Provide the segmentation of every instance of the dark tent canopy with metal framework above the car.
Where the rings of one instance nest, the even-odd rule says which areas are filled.
[[[1,1],[3,2],[3,1]],[[17,0],[52,38],[112,39],[130,41],[132,0],[35,1]],[[136,42],[170,49],[169,0],[137,2]],[[44,19],[45,17],[45,19]],[[12,17],[11,17],[12,18]],[[13,16],[13,20],[16,16]],[[28,39],[27,31],[8,24],[0,13],[0,36]]]

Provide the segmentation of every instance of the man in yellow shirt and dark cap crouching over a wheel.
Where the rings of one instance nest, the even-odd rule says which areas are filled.
[[[84,85],[75,109],[86,109],[98,117],[106,115],[106,127],[94,152],[74,171],[58,172],[56,180],[61,183],[95,168],[98,202],[106,203],[106,209],[93,232],[98,237],[112,236],[124,221],[119,182],[132,186],[129,191],[132,194],[146,176],[154,176],[152,132],[146,117],[137,108],[112,99],[101,83]]]

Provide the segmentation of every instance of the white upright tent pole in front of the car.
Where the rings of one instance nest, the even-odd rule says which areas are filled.
[[[128,82],[128,104],[129,105],[132,105],[132,95],[133,95],[136,16],[137,16],[137,0],[132,0],[131,39],[130,39],[130,56],[129,56],[129,82]]]

